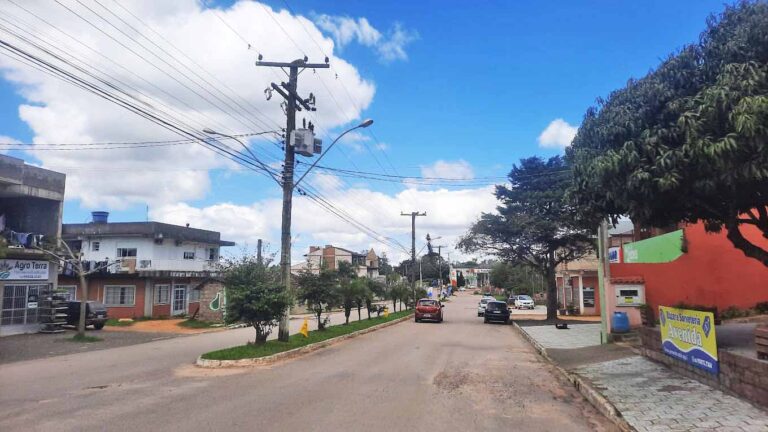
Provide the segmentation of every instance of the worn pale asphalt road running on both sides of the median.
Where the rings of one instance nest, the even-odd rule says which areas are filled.
[[[3,365],[0,430],[613,430],[476,301],[271,367],[191,365],[246,329]]]

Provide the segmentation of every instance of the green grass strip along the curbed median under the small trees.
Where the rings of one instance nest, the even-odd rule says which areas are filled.
[[[240,345],[231,348],[224,348],[217,351],[207,352],[202,355],[206,360],[240,360],[245,358],[259,358],[283,351],[289,351],[301,348],[313,343],[322,342],[338,336],[343,336],[359,330],[364,330],[385,322],[394,321],[398,318],[413,314],[413,310],[405,310],[390,313],[388,317],[363,319],[361,321],[350,321],[349,324],[339,324],[327,327],[323,331],[314,330],[309,332],[309,337],[297,333],[290,336],[288,342],[270,340],[262,345]]]

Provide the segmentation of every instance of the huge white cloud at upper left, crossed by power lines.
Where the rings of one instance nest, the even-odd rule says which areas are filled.
[[[89,69],[92,73],[113,83],[119,82],[129,93],[197,131],[212,128],[240,133],[280,128],[285,117],[279,107],[279,98],[266,101],[263,90],[270,82],[279,79],[275,74],[281,72],[255,67],[254,60],[256,53],[262,54],[265,60],[276,61],[303,57],[304,52],[294,46],[291,39],[306,51],[310,60],[322,61],[323,52],[327,53],[339,76],[334,79],[332,72],[322,70],[302,75],[302,93],[314,93],[320,108],[313,118],[314,123],[327,130],[344,126],[350,118],[359,118],[361,110],[365,110],[373,99],[373,83],[361,78],[353,65],[336,55],[333,40],[325,37],[311,21],[285,10],[273,12],[269,6],[251,1],[240,1],[216,12],[196,0],[125,0],[120,4],[202,68],[119,7],[110,10],[131,23],[147,39],[133,31],[127,33],[133,35],[134,40],[127,39],[106,24],[100,29],[147,61],[56,5],[23,2],[35,16],[56,25],[75,40],[36,21],[35,16],[12,3],[0,3],[0,14],[20,25],[36,24],[33,37],[54,41],[65,56],[73,56],[82,62],[81,66],[93,68]],[[94,7],[100,10],[98,6]],[[82,9],[77,5],[73,8]],[[104,18],[124,27],[117,18],[100,11]],[[270,13],[273,17],[268,16]],[[252,44],[251,50],[219,20],[217,14]],[[290,38],[283,34],[283,29]],[[148,39],[163,46],[167,53],[151,45]],[[40,54],[18,39],[9,37],[8,40]],[[105,53],[106,57],[97,52]],[[180,138],[126,109],[8,57],[0,56],[0,74],[14,84],[26,100],[19,107],[19,117],[32,130],[35,143]],[[319,76],[323,76],[323,82]],[[336,95],[349,92],[351,98],[336,97],[334,103],[329,91]],[[275,164],[280,151],[272,144],[264,145],[265,142],[254,139],[251,144],[263,146],[264,151],[259,154],[265,155],[266,163]],[[154,207],[201,199],[211,190],[208,170],[235,166],[196,144],[91,151],[44,151],[33,147],[29,153],[43,166],[66,173],[67,198],[79,200],[86,208],[121,209],[144,203]]]

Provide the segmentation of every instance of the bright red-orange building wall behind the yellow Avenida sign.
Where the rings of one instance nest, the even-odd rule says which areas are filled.
[[[754,227],[744,227],[742,232],[753,243],[768,248],[768,240]],[[708,234],[702,224],[689,225],[685,239],[688,252],[675,261],[611,264],[611,277],[642,277],[646,303],[654,310],[679,302],[720,310],[749,308],[768,300],[768,267],[734,248],[725,232]]]

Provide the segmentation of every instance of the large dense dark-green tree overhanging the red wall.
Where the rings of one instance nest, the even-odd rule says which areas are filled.
[[[567,150],[584,223],[725,229],[768,266],[768,4],[712,16],[697,43],[590,108]],[[758,237],[754,237],[758,238]]]

